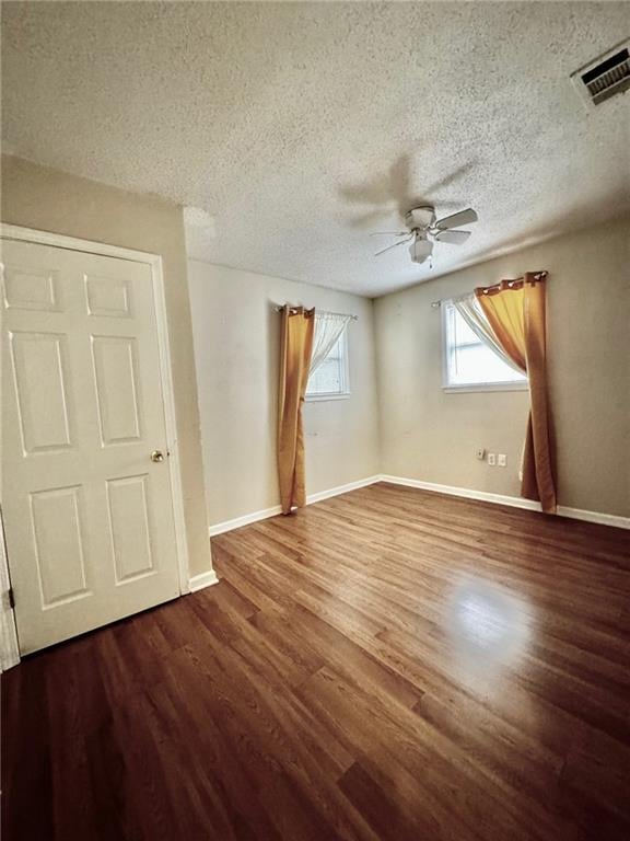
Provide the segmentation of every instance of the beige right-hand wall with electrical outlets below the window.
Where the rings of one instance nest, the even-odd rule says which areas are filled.
[[[630,516],[630,219],[462,269],[375,301],[382,471],[518,495],[523,392],[442,391],[431,301],[548,269],[548,359],[559,503]],[[477,461],[483,447],[508,468]]]

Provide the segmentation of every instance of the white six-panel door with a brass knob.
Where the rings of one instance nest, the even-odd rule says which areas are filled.
[[[172,599],[179,579],[150,266],[4,241],[2,268],[4,528],[25,654]]]

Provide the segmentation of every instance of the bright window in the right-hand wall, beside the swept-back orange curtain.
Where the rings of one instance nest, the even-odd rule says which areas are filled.
[[[482,342],[450,301],[442,306],[446,390],[492,391],[527,388],[527,377],[511,368]]]

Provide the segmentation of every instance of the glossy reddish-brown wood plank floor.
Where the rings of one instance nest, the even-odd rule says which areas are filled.
[[[4,841],[628,841],[630,532],[373,485],[2,680]]]

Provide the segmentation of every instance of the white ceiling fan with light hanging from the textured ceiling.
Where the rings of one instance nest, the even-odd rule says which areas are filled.
[[[433,253],[435,242],[446,242],[450,245],[463,245],[470,231],[455,230],[460,224],[471,224],[477,221],[477,214],[471,207],[466,210],[459,210],[452,216],[445,216],[443,219],[435,218],[435,208],[431,205],[415,207],[405,216],[407,224],[406,231],[377,231],[371,237],[402,237],[404,239],[393,242],[374,256],[384,254],[386,251],[405,245],[410,242],[409,254],[413,263],[424,263]]]

